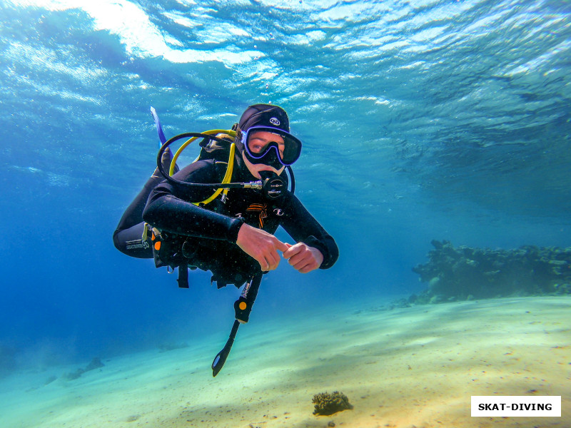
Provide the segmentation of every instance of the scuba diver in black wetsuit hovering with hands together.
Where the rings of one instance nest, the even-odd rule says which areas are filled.
[[[188,137],[202,138],[201,155],[178,170],[181,149],[173,158],[169,146]],[[293,195],[290,165],[300,156],[301,141],[290,134],[283,108],[256,104],[244,111],[232,131],[185,133],[164,140],[162,136],[157,169],[123,214],[113,243],[126,255],[154,258],[156,267],[178,267],[179,287],[188,287],[188,269],[196,268],[210,270],[218,288],[246,283],[235,304],[226,355],[219,354],[213,362],[216,376],[237,322],[248,321],[262,275],[275,270],[281,257],[301,273],[328,269],[338,258],[338,248]],[[278,240],[273,235],[278,226],[295,243]]]

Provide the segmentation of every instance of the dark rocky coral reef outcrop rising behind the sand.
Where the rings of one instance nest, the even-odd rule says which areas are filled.
[[[571,248],[454,247],[433,240],[428,263],[413,267],[428,290],[415,304],[513,295],[571,294]]]

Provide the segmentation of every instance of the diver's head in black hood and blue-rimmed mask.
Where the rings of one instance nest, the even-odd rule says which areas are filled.
[[[288,114],[271,104],[255,104],[246,109],[238,123],[236,147],[253,176],[271,170],[281,174],[298,160],[301,141],[290,133]]]

